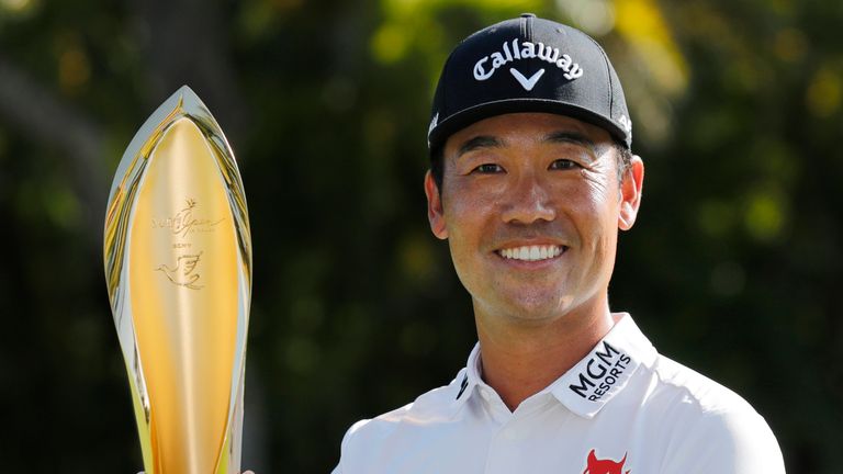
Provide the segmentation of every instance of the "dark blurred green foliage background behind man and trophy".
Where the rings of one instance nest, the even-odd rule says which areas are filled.
[[[2,471],[142,465],[102,222],[182,83],[251,216],[245,466],[329,472],[351,422],[448,383],[475,335],[425,217],[428,104],[459,40],[524,11],[627,91],[648,168],[614,308],[753,403],[788,472],[842,472],[838,0],[0,0]]]

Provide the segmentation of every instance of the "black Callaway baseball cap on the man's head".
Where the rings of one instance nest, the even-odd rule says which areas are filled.
[[[428,147],[483,119],[516,112],[567,115],[632,146],[623,89],[600,45],[531,13],[485,27],[451,52],[434,95]]]

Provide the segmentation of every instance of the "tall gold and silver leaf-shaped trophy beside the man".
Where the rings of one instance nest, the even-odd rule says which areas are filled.
[[[187,86],[123,155],[104,258],[146,473],[239,473],[249,221],[234,154]]]

